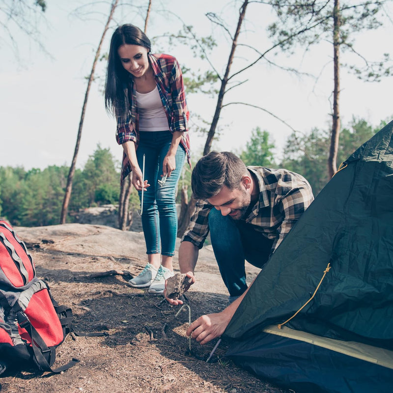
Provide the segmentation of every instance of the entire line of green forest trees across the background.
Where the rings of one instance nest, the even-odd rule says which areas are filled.
[[[354,150],[386,125],[383,121],[374,129],[364,119],[353,118],[347,128],[342,129],[338,152],[338,162],[347,159]],[[328,182],[327,159],[330,146],[330,133],[313,129],[309,135],[292,134],[285,146],[282,168],[287,168],[305,176],[314,195]],[[253,130],[251,139],[239,156],[246,165],[277,167],[267,131]],[[193,166],[201,154],[194,153]],[[106,203],[117,203],[119,197],[118,164],[109,149],[97,145],[83,169],[74,175],[72,197],[69,211]],[[59,222],[61,204],[64,198],[69,168],[50,166],[43,170],[23,167],[0,167],[0,213],[13,225],[42,226],[56,225]],[[179,189],[187,187],[191,197],[191,170],[184,166],[179,181]],[[178,200],[180,202],[180,193]],[[136,190],[130,196],[130,208],[139,207]]]

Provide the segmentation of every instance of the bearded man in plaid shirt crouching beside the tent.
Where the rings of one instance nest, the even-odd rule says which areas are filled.
[[[203,315],[187,329],[201,344],[221,336],[247,292],[245,259],[262,268],[313,200],[301,175],[286,169],[246,167],[236,155],[213,151],[202,157],[191,179],[198,199],[179,248],[180,271],[194,276],[198,251],[210,239],[230,305]],[[168,299],[168,298],[167,298]],[[181,300],[168,299],[172,305]]]

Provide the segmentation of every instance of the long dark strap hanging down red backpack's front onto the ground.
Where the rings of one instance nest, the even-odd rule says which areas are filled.
[[[40,368],[40,370],[59,373],[61,371],[67,370],[68,368],[72,367],[73,365],[79,362],[78,359],[73,358],[66,365],[57,368],[52,368],[52,365],[55,363],[55,359],[56,359],[55,347],[48,347],[45,344],[45,341],[35,330],[34,326],[31,325],[27,315],[24,312],[19,310],[16,313],[16,317],[19,326],[23,329],[26,329],[29,336],[31,337],[31,347],[33,349],[35,361],[38,367]]]

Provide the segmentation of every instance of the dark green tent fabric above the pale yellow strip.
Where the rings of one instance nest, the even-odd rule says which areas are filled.
[[[357,149],[271,256],[224,336],[285,326],[393,349],[393,121]]]

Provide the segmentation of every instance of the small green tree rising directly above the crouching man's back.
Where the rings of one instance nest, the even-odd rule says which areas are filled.
[[[267,131],[261,131],[259,127],[253,130],[251,140],[246,144],[246,150],[240,154],[240,158],[246,165],[258,167],[275,167],[273,149],[274,142],[270,141]]]

